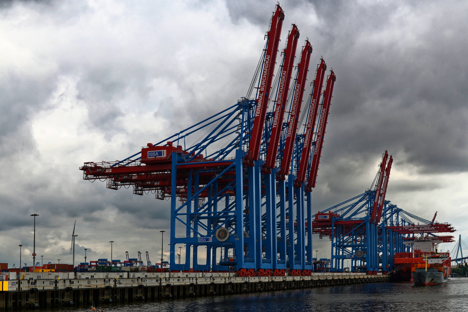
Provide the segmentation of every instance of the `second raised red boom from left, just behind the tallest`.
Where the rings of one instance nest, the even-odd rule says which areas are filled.
[[[294,66],[294,57],[296,55],[298,39],[299,29],[297,29],[295,24],[292,24],[292,29],[288,36],[288,42],[284,50],[285,61],[283,62],[281,80],[279,81],[278,96],[276,98],[275,112],[271,126],[270,142],[268,143],[268,152],[264,164],[264,168],[266,169],[275,167],[276,163],[279,138],[281,137],[281,129],[283,126],[283,118],[285,116],[285,107],[289,93],[289,84],[291,81],[292,67]]]

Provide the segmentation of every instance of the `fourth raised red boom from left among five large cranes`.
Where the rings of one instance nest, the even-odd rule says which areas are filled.
[[[314,80],[314,92],[312,93],[312,102],[310,102],[309,116],[306,123],[306,131],[304,132],[304,146],[300,155],[299,170],[295,181],[295,186],[300,187],[306,180],[307,164],[309,162],[309,154],[312,146],[312,135],[314,132],[315,122],[317,121],[317,111],[319,108],[319,98],[322,94],[323,78],[325,77],[325,71],[327,70],[327,64],[323,58],[320,59],[320,64],[317,65],[317,74]]]

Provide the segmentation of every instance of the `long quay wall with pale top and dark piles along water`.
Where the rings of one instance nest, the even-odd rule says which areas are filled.
[[[123,272],[122,272],[123,273]],[[387,275],[312,273],[308,276],[235,276],[235,273],[76,273],[77,278],[7,280],[0,282],[0,309],[51,308],[92,303],[126,304],[273,290],[387,282]],[[70,272],[70,275],[75,273]],[[31,273],[32,275],[32,273]],[[81,276],[81,278],[78,278]],[[92,277],[97,276],[97,277]],[[112,276],[112,277],[111,277]],[[151,276],[151,277],[150,277]],[[156,276],[156,277],[153,277]],[[71,277],[71,276],[70,276]]]

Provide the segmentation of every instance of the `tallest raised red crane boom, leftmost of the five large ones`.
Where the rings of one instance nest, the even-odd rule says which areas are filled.
[[[262,140],[263,127],[265,125],[265,116],[268,108],[268,98],[270,96],[271,82],[275,69],[276,55],[278,52],[279,36],[285,14],[279,5],[276,6],[276,12],[271,18],[270,30],[267,33],[268,44],[263,61],[263,70],[260,78],[260,89],[257,97],[257,105],[255,109],[254,124],[249,142],[249,152],[246,156],[246,161],[249,166],[253,166],[253,162],[258,160],[260,153],[260,145]]]

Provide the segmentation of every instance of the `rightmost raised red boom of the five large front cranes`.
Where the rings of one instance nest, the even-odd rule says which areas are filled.
[[[305,190],[310,192],[315,187],[317,181],[317,172],[319,170],[320,155],[322,154],[323,136],[327,127],[328,113],[330,110],[331,97],[333,95],[333,86],[335,85],[336,75],[330,71],[327,80],[327,87],[323,94],[322,112],[320,114],[319,124],[317,126],[317,140],[315,141],[314,155],[312,157],[312,165],[310,167],[309,181]]]

